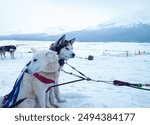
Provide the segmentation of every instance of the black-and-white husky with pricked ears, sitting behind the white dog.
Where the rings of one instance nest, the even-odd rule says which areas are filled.
[[[55,43],[52,43],[50,46],[50,50],[53,50],[57,52],[58,58],[59,58],[59,68],[62,68],[64,65],[64,61],[67,61],[70,58],[75,57],[75,53],[73,52],[73,43],[75,41],[75,38],[71,40],[66,40],[66,36],[63,35],[58,41]],[[56,81],[56,84],[58,84],[58,79]],[[58,102],[64,102],[65,100],[61,98],[59,88],[54,88],[55,96]]]

